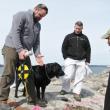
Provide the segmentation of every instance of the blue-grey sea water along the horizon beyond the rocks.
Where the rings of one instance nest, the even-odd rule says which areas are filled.
[[[100,74],[102,73],[105,69],[107,69],[107,65],[90,65],[89,66],[93,72],[93,74]],[[3,67],[0,67],[0,76],[3,72]]]

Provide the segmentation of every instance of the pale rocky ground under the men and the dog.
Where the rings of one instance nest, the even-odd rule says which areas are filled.
[[[46,88],[47,107],[40,107],[36,110],[103,110],[108,76],[108,72],[88,76],[84,80],[81,102],[75,101],[72,93],[60,95],[61,80],[54,78]],[[12,88],[10,98],[21,103],[16,110],[32,110],[34,106],[26,103],[26,98],[21,96],[22,92],[19,91],[19,98],[14,98],[14,91],[15,88]]]

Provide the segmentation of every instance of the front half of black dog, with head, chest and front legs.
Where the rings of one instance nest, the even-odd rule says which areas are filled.
[[[46,86],[51,82],[51,78],[64,75],[62,67],[58,63],[48,63],[43,66],[33,66],[35,86],[37,90],[37,98],[41,101],[45,100],[45,89]],[[40,92],[41,88],[41,92]],[[41,96],[40,96],[41,93]]]

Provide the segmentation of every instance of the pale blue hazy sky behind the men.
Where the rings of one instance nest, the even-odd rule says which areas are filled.
[[[45,63],[58,62],[63,65],[61,46],[65,36],[74,30],[74,23],[81,20],[83,33],[91,44],[91,64],[110,65],[110,47],[101,39],[110,28],[110,0],[0,0],[0,49],[8,35],[12,17],[16,12],[33,9],[44,3],[49,9],[41,23],[41,53]],[[32,63],[36,63],[31,57]],[[0,64],[3,56],[0,54]]]

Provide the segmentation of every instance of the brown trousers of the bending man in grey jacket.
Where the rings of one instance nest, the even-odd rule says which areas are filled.
[[[10,93],[10,86],[15,79],[15,68],[18,54],[14,48],[4,46],[2,49],[4,56],[4,71],[0,79],[0,101],[7,100]],[[35,86],[33,76],[30,76],[27,81],[27,93],[29,100],[35,99]]]

